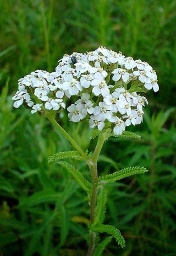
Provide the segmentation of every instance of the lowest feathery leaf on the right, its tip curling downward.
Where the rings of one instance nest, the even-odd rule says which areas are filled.
[[[116,241],[119,244],[119,246],[121,246],[122,248],[125,247],[125,239],[116,227],[113,227],[111,225],[100,224],[95,226],[92,225],[91,230],[98,233],[106,232],[108,234],[111,234],[111,236],[116,238]]]

